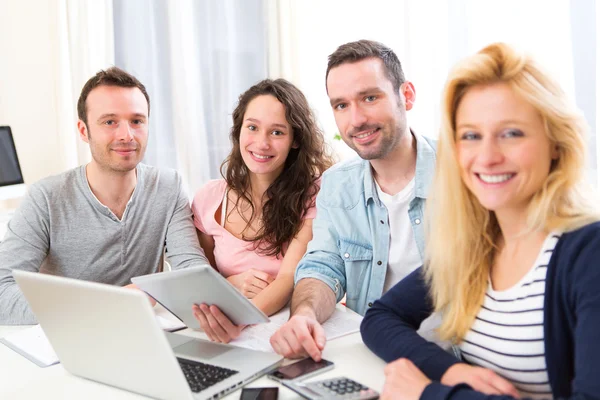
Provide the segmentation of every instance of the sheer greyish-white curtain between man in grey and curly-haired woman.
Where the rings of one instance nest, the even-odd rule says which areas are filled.
[[[266,19],[262,0],[114,0],[115,63],[150,94],[145,162],[190,195],[220,176],[237,98],[267,77]]]

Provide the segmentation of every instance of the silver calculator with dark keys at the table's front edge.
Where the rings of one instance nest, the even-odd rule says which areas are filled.
[[[368,400],[379,397],[375,390],[345,377],[312,382],[283,380],[281,383],[309,400]]]

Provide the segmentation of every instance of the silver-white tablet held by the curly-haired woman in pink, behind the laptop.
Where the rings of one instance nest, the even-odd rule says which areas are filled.
[[[209,265],[131,278],[137,287],[181,319],[188,328],[200,329],[192,305],[216,305],[236,325],[269,322],[250,300]]]

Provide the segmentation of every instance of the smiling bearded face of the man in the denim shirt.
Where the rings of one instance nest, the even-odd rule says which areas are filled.
[[[378,58],[332,68],[327,93],[342,139],[365,160],[385,158],[408,132],[414,87],[404,82],[396,93]]]

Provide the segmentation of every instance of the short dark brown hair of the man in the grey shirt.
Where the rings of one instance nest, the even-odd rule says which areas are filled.
[[[136,87],[140,89],[146,101],[148,102],[148,114],[150,114],[150,96],[146,91],[146,87],[133,75],[123,71],[119,67],[110,67],[107,70],[100,70],[92,76],[83,85],[79,100],[77,100],[77,116],[87,125],[87,107],[86,101],[90,92],[98,86],[117,86],[124,88]]]

